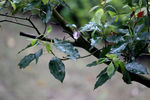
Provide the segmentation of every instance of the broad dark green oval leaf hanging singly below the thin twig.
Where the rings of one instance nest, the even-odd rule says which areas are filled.
[[[50,73],[59,81],[63,82],[65,78],[65,65],[57,58],[53,57],[49,62]]]

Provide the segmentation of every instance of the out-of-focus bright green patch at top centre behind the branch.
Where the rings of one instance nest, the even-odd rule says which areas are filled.
[[[92,7],[99,5],[99,0],[65,0],[70,6],[71,10],[64,7],[60,12],[62,16],[70,22],[70,24],[77,24],[83,26],[88,23],[90,17],[94,15],[89,12]]]

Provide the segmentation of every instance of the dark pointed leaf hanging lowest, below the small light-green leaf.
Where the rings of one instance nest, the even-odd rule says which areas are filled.
[[[109,79],[109,76],[107,73],[102,73],[94,86],[94,89],[98,88],[99,86],[102,86],[107,80]]]

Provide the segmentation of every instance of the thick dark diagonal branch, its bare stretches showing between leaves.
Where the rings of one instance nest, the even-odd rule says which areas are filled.
[[[57,21],[59,21],[60,25],[65,30],[67,30],[67,31],[70,30],[69,32],[72,32],[72,33],[69,33],[69,35],[72,37],[73,30],[71,30],[69,27],[66,27],[67,22],[62,18],[62,16],[57,12],[56,9],[54,9],[54,11],[53,11],[53,16],[57,19]],[[81,48],[85,49],[86,51],[88,51],[89,53],[92,53],[92,52],[96,51],[93,54],[93,56],[95,56],[98,59],[100,58],[99,55],[100,55],[101,51],[98,50],[95,47],[92,50],[90,50],[90,48],[91,48],[90,43],[88,41],[86,41],[82,36],[80,36],[80,38],[77,41],[75,41],[74,46],[81,47]],[[106,63],[106,64],[108,65],[109,63]],[[118,70],[118,72],[121,73],[120,70]],[[137,75],[137,74],[134,74],[134,73],[131,73],[131,72],[129,72],[129,75],[131,77],[131,81],[141,83],[141,84],[143,84],[143,85],[150,88],[150,79],[149,78],[146,78],[142,75]]]

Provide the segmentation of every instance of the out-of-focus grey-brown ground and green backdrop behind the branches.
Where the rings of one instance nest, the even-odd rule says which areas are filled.
[[[89,5],[88,2],[92,1],[68,0],[70,6],[74,7],[72,9],[77,17],[83,19],[78,22],[79,25],[86,24],[90,18],[88,12],[93,5]],[[78,6],[83,7],[83,11]],[[63,10],[63,16],[68,17],[67,20],[71,20],[73,23],[74,20],[69,19],[71,15],[65,11],[66,9]],[[0,17],[0,19],[5,18]],[[33,21],[42,32],[44,29],[42,22],[37,18],[34,18]],[[65,61],[66,77],[63,84],[50,74],[48,62],[52,55],[48,54],[46,50],[44,50],[44,54],[40,57],[37,65],[33,62],[29,67],[21,70],[17,65],[18,62],[25,55],[36,52],[42,47],[30,48],[17,54],[30,43],[27,38],[19,36],[19,32],[36,34],[36,31],[10,23],[0,23],[0,25],[0,100],[150,100],[149,88],[135,82],[126,85],[119,73],[102,87],[93,90],[96,75],[106,66],[99,65],[87,68],[88,63],[96,60],[93,56],[79,59],[76,62]],[[51,38],[63,38],[64,35],[66,34],[63,33],[60,26],[52,24]],[[55,48],[53,50],[57,56],[63,55]],[[88,54],[83,49],[79,48],[79,51],[81,56]]]

